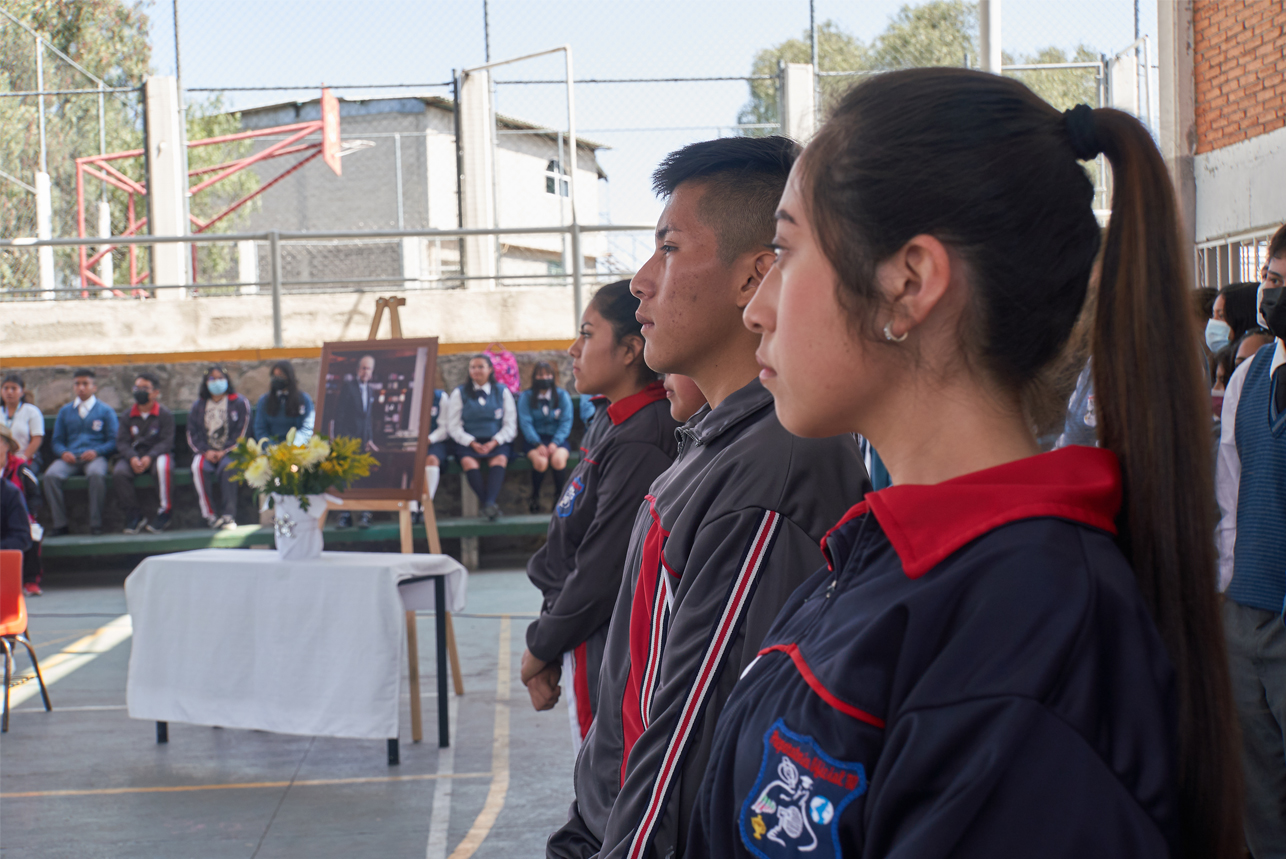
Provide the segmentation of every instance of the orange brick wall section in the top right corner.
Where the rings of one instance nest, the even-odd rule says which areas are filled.
[[[1286,3],[1196,0],[1197,152],[1286,126]]]

